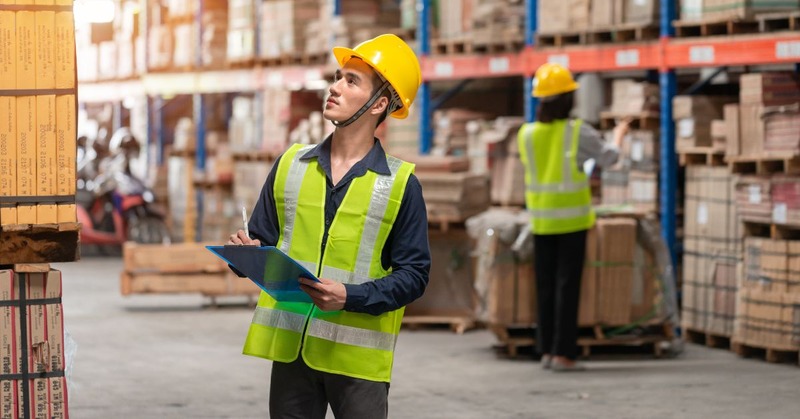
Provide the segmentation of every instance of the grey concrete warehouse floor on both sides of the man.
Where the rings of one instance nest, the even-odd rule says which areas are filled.
[[[93,418],[266,418],[267,361],[241,355],[251,310],[195,295],[119,294],[121,261],[58,264],[75,351],[69,411]],[[553,374],[498,358],[485,331],[403,331],[392,418],[792,418],[800,368],[687,345],[675,359],[605,357]],[[331,416],[332,417],[332,416]]]

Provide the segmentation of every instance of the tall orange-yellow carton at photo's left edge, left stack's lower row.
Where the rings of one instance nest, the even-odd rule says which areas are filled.
[[[17,195],[17,101],[0,96],[0,196]],[[17,207],[0,203],[0,225],[17,223]]]

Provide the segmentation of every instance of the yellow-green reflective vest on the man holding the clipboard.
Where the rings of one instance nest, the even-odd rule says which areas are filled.
[[[414,165],[387,156],[391,175],[367,171],[353,179],[323,252],[326,176],[316,159],[300,160],[310,148],[292,146],[278,164],[273,186],[278,247],[322,278],[345,284],[380,280],[391,272],[381,265],[381,251]],[[279,362],[301,354],[319,371],[389,382],[403,312],[326,312],[309,303],[278,302],[262,292],[243,352]]]

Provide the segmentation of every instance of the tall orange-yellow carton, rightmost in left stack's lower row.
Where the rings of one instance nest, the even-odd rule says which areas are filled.
[[[75,195],[77,130],[75,95],[56,96],[57,195]],[[58,204],[58,222],[76,222],[75,204]]]

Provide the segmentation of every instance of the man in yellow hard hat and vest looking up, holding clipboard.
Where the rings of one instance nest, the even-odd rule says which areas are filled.
[[[428,283],[430,250],[414,166],[384,153],[375,129],[408,116],[421,82],[395,35],[336,47],[319,145],[293,145],[267,177],[248,224],[229,244],[274,245],[317,274],[313,304],[261,293],[244,353],[271,359],[270,417],[385,418],[404,306]]]

